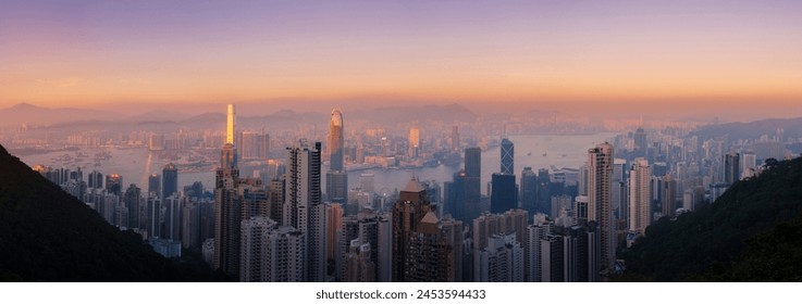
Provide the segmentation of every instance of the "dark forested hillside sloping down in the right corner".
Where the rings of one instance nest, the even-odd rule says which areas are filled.
[[[625,253],[627,271],[618,279],[799,280],[802,266],[786,264],[802,262],[802,241],[791,241],[802,240],[802,219],[784,223],[802,212],[801,172],[802,159],[778,162],[713,204],[653,224]]]

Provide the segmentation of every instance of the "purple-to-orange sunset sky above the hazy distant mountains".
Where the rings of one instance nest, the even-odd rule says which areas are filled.
[[[0,107],[802,104],[802,1],[0,2]]]

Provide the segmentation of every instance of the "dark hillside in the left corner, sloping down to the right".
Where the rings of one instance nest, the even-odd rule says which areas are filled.
[[[211,281],[202,264],[166,259],[120,231],[0,147],[0,280]]]

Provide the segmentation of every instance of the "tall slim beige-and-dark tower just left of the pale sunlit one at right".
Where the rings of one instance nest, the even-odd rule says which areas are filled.
[[[615,227],[612,210],[613,145],[602,143],[588,150],[588,219],[599,223],[601,269],[608,273],[615,263]]]

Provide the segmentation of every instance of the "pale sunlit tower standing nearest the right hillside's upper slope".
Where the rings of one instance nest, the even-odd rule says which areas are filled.
[[[638,159],[629,173],[629,230],[643,236],[652,223],[652,193],[650,181],[652,168],[649,161]]]

